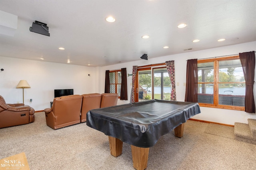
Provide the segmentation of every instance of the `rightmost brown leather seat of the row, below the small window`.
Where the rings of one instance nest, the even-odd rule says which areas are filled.
[[[118,100],[117,93],[103,93],[101,94],[100,108],[116,106]]]

